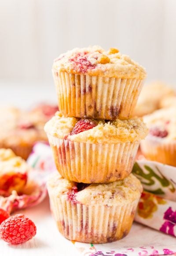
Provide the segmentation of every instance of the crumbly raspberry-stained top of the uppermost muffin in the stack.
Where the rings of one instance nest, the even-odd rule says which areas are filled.
[[[118,49],[105,51],[100,46],[75,48],[61,54],[54,60],[53,69],[73,74],[100,75],[122,79],[144,79],[146,71],[131,60],[129,56],[119,53]]]

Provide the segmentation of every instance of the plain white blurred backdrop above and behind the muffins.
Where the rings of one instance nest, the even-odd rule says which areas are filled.
[[[12,86],[26,105],[37,87],[36,100],[55,101],[53,59],[94,44],[130,55],[148,81],[176,85],[176,1],[0,0],[0,100],[16,103]]]

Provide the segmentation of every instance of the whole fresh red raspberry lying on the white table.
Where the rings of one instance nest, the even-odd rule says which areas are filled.
[[[0,225],[0,238],[7,243],[17,245],[36,235],[36,226],[24,214],[17,214],[4,220]]]

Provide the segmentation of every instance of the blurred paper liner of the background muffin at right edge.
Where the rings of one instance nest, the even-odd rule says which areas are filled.
[[[142,154],[152,161],[158,161],[167,165],[176,166],[176,142],[163,143],[160,138],[150,138],[141,141]]]

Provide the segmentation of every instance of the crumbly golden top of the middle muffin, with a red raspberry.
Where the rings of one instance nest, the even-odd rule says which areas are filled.
[[[59,139],[88,143],[134,142],[147,136],[147,127],[139,118],[97,120],[64,117],[59,111],[44,127],[47,134]]]

